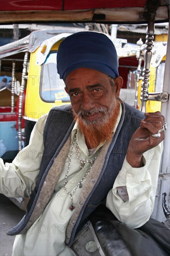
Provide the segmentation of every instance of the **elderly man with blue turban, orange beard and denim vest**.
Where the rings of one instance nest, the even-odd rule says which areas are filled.
[[[4,193],[31,195],[26,216],[8,232],[20,234],[13,255],[75,255],[76,231],[105,199],[120,222],[135,228],[154,206],[164,117],[119,99],[118,57],[104,34],[67,37],[57,63],[71,105],[36,123],[27,159],[21,151],[13,163],[1,162],[2,187],[11,188]]]

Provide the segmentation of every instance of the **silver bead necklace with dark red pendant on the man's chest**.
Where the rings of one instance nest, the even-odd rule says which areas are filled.
[[[82,188],[82,182],[83,182],[83,180],[85,179],[85,177],[88,175],[88,173],[90,172],[90,170],[91,170],[91,168],[92,168],[92,165],[93,165],[93,163],[95,162],[95,160],[96,160],[96,158],[97,158],[97,157],[95,156],[92,160],[88,160],[88,159],[83,159],[83,160],[82,160],[82,159],[81,159],[80,154],[79,154],[78,143],[77,143],[77,141],[76,141],[76,135],[77,135],[77,133],[75,134],[75,136],[74,136],[74,141],[73,141],[73,143],[72,143],[72,149],[71,149],[71,153],[70,153],[70,157],[69,157],[68,168],[67,168],[67,172],[66,172],[66,174],[65,174],[65,182],[64,182],[64,185],[63,185],[63,188],[65,189],[66,193],[71,196],[71,205],[70,205],[70,207],[69,207],[69,209],[70,209],[71,211],[75,208],[75,206],[73,205],[73,197],[72,197],[72,195],[74,195],[74,193],[76,192],[76,189],[78,189],[78,187],[79,187],[80,189]],[[72,161],[72,151],[73,151],[74,145],[76,145],[76,155],[77,155],[78,162],[81,164],[81,165],[80,165],[80,169],[83,168],[82,164],[83,164],[83,163],[86,163],[86,162],[90,162],[90,163],[91,163],[91,166],[90,166],[89,170],[85,173],[85,175],[83,176],[83,178],[78,182],[78,184],[77,184],[77,186],[75,187],[75,189],[73,190],[73,192],[71,193],[71,192],[69,192],[69,191],[65,188],[65,185],[67,184],[67,176],[68,176],[68,173],[69,173],[69,171],[70,171],[70,164],[71,164],[71,161]]]

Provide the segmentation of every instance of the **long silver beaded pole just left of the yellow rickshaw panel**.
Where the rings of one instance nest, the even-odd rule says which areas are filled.
[[[19,151],[22,149],[22,106],[24,98],[24,89],[27,80],[27,65],[28,65],[29,53],[26,52],[24,56],[23,69],[22,69],[22,80],[20,87],[20,98],[19,98],[19,113],[18,113],[18,148]]]

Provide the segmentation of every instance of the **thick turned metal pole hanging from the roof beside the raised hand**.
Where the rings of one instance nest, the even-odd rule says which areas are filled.
[[[145,51],[144,51],[144,69],[143,69],[143,81],[141,88],[141,108],[140,110],[146,112],[146,102],[149,97],[149,76],[150,76],[150,61],[152,57],[152,47],[155,33],[155,15],[157,11],[157,0],[148,1],[148,26],[146,31]]]

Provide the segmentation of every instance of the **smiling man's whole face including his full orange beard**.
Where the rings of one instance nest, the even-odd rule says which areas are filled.
[[[78,68],[67,75],[65,90],[88,148],[96,148],[101,141],[111,141],[119,114],[117,97],[122,81],[121,77],[116,78],[112,86],[110,77],[89,68]]]

